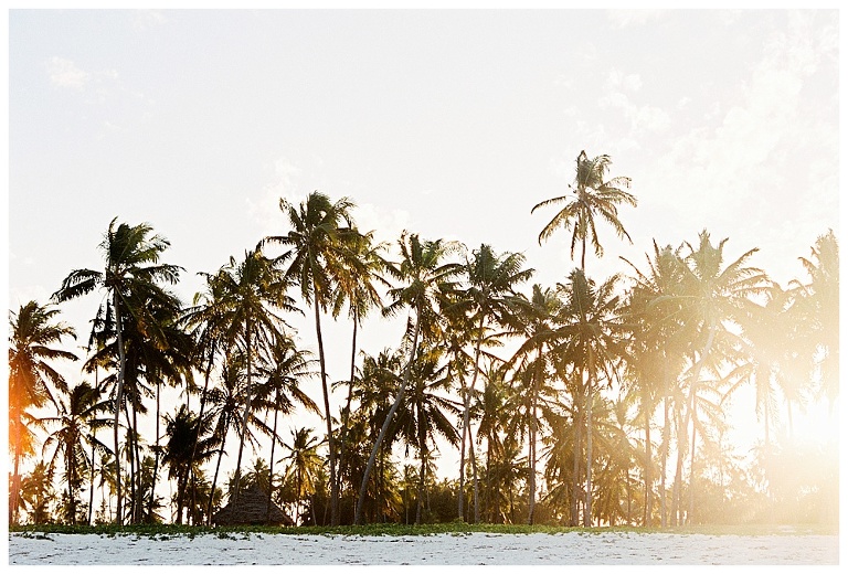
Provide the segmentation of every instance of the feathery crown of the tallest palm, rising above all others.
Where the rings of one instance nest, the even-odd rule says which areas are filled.
[[[630,187],[629,178],[617,177],[605,180],[611,163],[610,156],[597,156],[590,159],[585,151],[581,151],[576,160],[574,184],[569,185],[574,196],[561,195],[537,203],[530,210],[530,213],[532,213],[539,208],[565,203],[539,234],[539,244],[542,244],[542,240],[548,240],[556,228],[568,228],[573,225],[571,258],[574,258],[574,249],[577,242],[581,242],[580,268],[583,270],[586,268],[586,240],[592,242],[595,255],[602,257],[604,254],[604,249],[597,240],[597,232],[595,231],[596,216],[602,217],[612,225],[619,238],[627,237],[627,241],[633,243],[633,240],[630,240],[630,236],[618,220],[618,204],[626,203],[635,208],[636,198],[623,189]]]

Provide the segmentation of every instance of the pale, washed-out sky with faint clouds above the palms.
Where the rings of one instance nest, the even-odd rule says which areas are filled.
[[[838,21],[783,9],[12,10],[9,309],[102,267],[114,217],[170,241],[190,302],[199,272],[286,233],[279,199],[314,190],[352,199],[380,240],[409,230],[520,252],[531,283],[553,286],[579,262],[565,231],[538,242],[554,209],[530,210],[568,192],[581,150],[608,155],[638,199],[619,212],[633,244],[602,227],[591,277],[627,273],[619,257],[644,269],[651,241],[708,230],[728,238],[728,262],[756,247],[751,264],[781,285],[806,279],[798,257],[839,234]],[[77,344],[98,304],[62,305]],[[311,325],[293,322],[315,349]],[[370,319],[362,348],[395,347],[401,330]],[[350,326],[326,333],[341,379]]]

